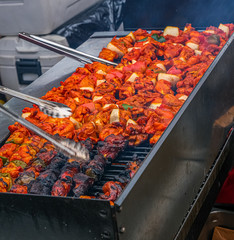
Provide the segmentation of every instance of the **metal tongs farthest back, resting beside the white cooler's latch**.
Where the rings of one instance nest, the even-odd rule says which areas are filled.
[[[49,49],[53,52],[65,55],[67,57],[73,58],[75,60],[78,60],[82,63],[92,63],[92,62],[100,62],[103,64],[107,64],[107,65],[112,65],[112,66],[117,66],[117,63],[102,59],[102,58],[98,58],[95,56],[92,56],[90,54],[87,53],[83,53],[81,51],[63,46],[61,44],[52,42],[50,40],[35,36],[35,35],[31,35],[28,33],[19,33],[18,34],[19,38],[22,38],[24,40],[27,40],[31,43],[34,43],[36,45],[39,45],[41,47],[44,47],[46,49]],[[88,59],[88,60],[87,60]]]

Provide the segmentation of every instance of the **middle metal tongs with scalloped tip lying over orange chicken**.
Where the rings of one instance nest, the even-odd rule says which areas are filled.
[[[0,92],[36,104],[42,112],[51,117],[65,118],[69,117],[72,114],[71,109],[62,103],[35,98],[3,86],[0,86]]]

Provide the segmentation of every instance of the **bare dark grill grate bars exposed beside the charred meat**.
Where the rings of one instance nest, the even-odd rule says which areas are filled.
[[[107,164],[103,176],[99,181],[95,182],[87,195],[97,196],[102,194],[103,185],[108,181],[116,181],[116,177],[125,171],[127,164],[135,160],[134,155],[143,161],[151,148],[149,143],[141,146],[127,147],[112,163]]]

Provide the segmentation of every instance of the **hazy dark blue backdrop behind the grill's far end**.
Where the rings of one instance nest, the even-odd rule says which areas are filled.
[[[157,29],[186,23],[206,28],[234,23],[234,0],[127,0],[125,29]]]

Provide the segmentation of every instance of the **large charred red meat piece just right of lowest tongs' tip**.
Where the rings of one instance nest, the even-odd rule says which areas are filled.
[[[103,142],[98,142],[98,154],[113,161],[127,144],[128,141],[122,135],[110,135]]]

